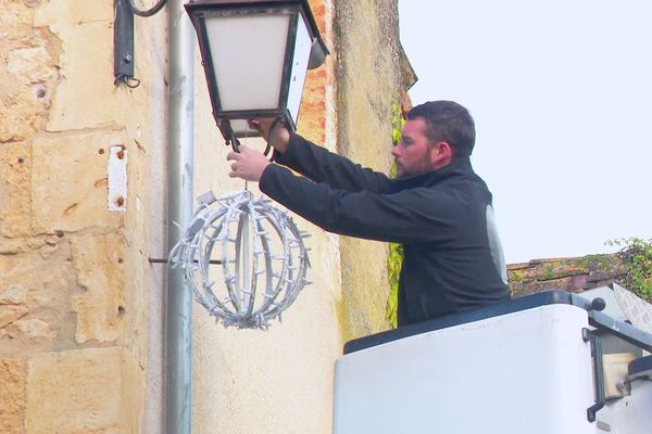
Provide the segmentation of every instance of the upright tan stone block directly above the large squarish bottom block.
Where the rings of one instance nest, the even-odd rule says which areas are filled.
[[[85,235],[72,241],[77,284],[84,292],[73,299],[77,312],[75,339],[111,342],[124,337],[125,241],[121,234]]]

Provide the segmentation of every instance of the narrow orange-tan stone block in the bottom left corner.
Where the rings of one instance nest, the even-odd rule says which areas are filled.
[[[26,362],[0,359],[0,433],[24,434]]]

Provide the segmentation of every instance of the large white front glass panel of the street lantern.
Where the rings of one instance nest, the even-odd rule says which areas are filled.
[[[290,16],[205,18],[222,111],[278,107]]]

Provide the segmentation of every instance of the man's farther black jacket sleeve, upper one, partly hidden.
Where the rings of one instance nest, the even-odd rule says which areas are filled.
[[[363,168],[296,133],[290,136],[285,153],[275,152],[275,159],[313,181],[326,183],[334,189],[381,193],[389,192],[392,188],[387,175]]]

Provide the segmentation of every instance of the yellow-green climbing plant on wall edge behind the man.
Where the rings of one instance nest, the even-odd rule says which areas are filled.
[[[401,131],[405,125],[401,106],[398,104],[391,107],[391,141],[396,145],[401,141]],[[396,178],[397,166],[392,164],[389,176]],[[398,326],[399,312],[399,276],[403,265],[403,246],[398,243],[389,244],[389,254],[387,255],[387,279],[389,281],[389,294],[387,295],[386,317],[393,328]]]

